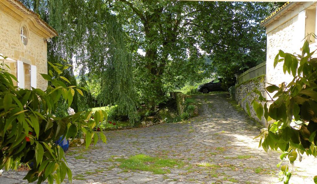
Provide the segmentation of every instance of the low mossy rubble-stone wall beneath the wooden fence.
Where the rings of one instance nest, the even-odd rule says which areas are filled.
[[[262,120],[260,120],[257,116],[256,116],[256,112],[253,109],[252,105],[250,105],[252,99],[252,96],[247,97],[245,100],[243,100],[243,98],[245,98],[249,92],[251,92],[254,88],[257,88],[259,91],[261,91],[262,95],[265,96],[266,92],[265,92],[265,75],[250,79],[248,81],[245,81],[241,84],[237,84],[235,86],[235,99],[236,101],[239,103],[239,105],[246,111],[247,111],[247,106],[246,104],[249,104],[249,109],[250,109],[250,116],[251,118],[253,118],[254,120],[256,120],[257,122],[263,124],[264,126],[267,126],[267,122],[265,120],[264,117],[262,117]],[[251,93],[251,95],[256,96],[255,93]]]

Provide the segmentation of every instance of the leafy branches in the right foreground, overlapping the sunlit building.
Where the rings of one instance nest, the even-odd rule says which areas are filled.
[[[310,52],[308,40],[309,37],[301,54],[280,50],[275,57],[274,67],[283,62],[283,71],[293,75],[292,81],[282,83],[281,87],[270,84],[266,88],[268,94],[273,93],[270,99],[258,89],[253,90],[258,95],[252,101],[257,116],[261,119],[264,114],[268,122],[275,120],[262,133],[259,146],[265,151],[278,148],[283,151],[278,167],[285,160],[291,164],[297,158],[301,161],[304,153],[317,156],[317,58],[312,58],[315,51]],[[288,183],[291,173],[281,171],[280,175]]]

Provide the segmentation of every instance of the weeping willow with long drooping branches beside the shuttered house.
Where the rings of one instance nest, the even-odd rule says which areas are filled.
[[[100,104],[117,104],[130,122],[137,119],[133,87],[133,62],[126,35],[102,0],[23,0],[27,7],[56,29],[59,36],[48,44],[48,60],[68,61],[79,68],[81,82],[101,86]],[[73,68],[68,72],[73,75]],[[87,104],[92,99],[86,98]]]

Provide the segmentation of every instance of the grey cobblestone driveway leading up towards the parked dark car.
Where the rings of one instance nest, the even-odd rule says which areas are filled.
[[[73,183],[272,183],[277,182],[279,153],[258,148],[257,125],[234,107],[226,94],[195,95],[200,115],[187,122],[106,132],[107,144],[89,150],[72,148],[67,160]],[[116,158],[145,154],[181,160],[171,173],[124,170]],[[207,164],[206,164],[207,163]],[[295,163],[294,183],[313,183],[316,161]],[[210,167],[203,167],[206,165]],[[306,170],[309,169],[310,173]],[[10,171],[0,183],[21,183],[26,172]],[[304,175],[299,177],[299,175]],[[77,180],[76,180],[77,179]]]

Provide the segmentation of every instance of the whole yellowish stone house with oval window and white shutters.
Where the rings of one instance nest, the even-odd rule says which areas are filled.
[[[56,31],[18,0],[0,0],[0,53],[20,88],[47,88],[47,42]],[[0,58],[1,59],[1,58]]]

